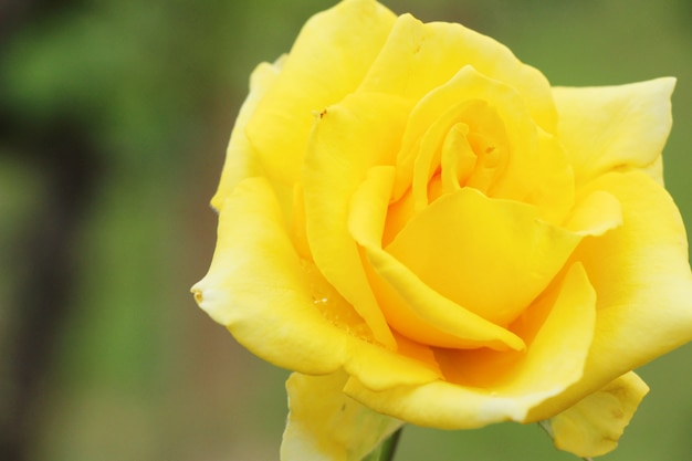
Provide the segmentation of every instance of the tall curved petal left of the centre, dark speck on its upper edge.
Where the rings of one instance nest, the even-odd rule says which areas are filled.
[[[324,276],[367,322],[376,339],[395,342],[348,233],[349,202],[369,168],[392,165],[410,107],[382,94],[353,94],[327,108],[315,125],[305,156],[306,231]]]

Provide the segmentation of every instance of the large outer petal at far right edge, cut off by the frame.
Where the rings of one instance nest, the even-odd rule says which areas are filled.
[[[548,418],[692,339],[686,237],[668,192],[640,171],[609,174],[588,187],[619,199],[623,224],[575,251],[598,295],[594,345],[584,378],[534,409],[532,419]]]

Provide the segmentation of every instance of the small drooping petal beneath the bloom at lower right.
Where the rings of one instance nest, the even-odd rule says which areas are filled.
[[[620,376],[551,418],[555,447],[584,458],[615,450],[648,391],[649,387],[635,373]]]

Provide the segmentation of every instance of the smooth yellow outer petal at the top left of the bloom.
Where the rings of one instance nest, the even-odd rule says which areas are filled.
[[[360,84],[396,17],[371,0],[346,0],[311,18],[247,134],[270,178],[298,179],[314,114]]]

